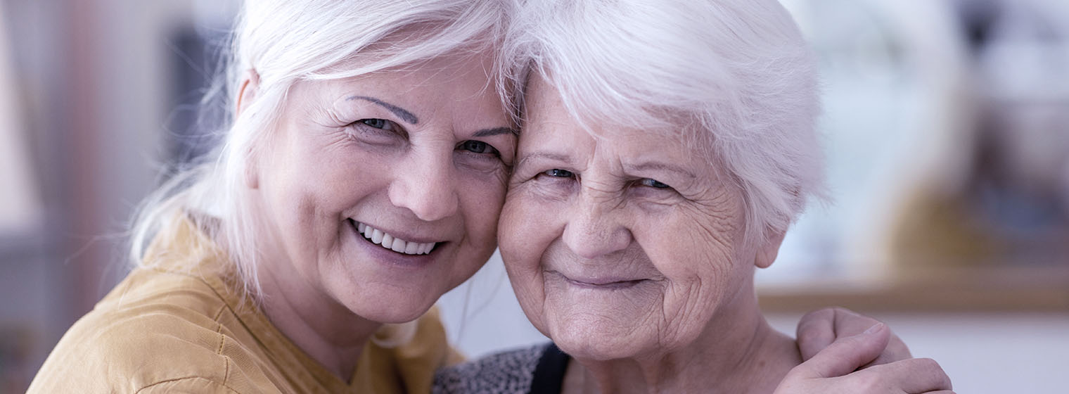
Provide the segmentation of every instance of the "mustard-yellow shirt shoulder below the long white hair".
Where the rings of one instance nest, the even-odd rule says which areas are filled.
[[[30,392],[244,392],[228,312],[197,279],[136,270],[63,335]]]

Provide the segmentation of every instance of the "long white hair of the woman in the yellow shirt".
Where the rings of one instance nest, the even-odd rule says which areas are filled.
[[[217,217],[210,237],[236,264],[243,294],[261,296],[255,213],[246,165],[275,128],[295,82],[418,66],[452,54],[496,56],[511,15],[499,0],[250,0],[236,19],[221,90],[228,115],[221,143],[155,191],[135,218],[130,257],[148,264],[149,243],[184,213]],[[234,113],[241,84],[253,72],[254,97]],[[208,102],[208,101],[205,101]],[[218,104],[217,104],[218,105]]]

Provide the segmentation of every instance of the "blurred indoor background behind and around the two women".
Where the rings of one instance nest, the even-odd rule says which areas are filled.
[[[1069,385],[1069,1],[785,0],[820,58],[831,203],[762,307],[880,318],[961,393]],[[128,270],[130,214],[213,142],[233,0],[0,0],[0,393]],[[202,115],[204,115],[202,117]],[[476,357],[545,340],[495,255],[440,302]]]

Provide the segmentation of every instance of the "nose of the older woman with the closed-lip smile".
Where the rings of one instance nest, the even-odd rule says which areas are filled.
[[[564,225],[564,244],[579,257],[597,258],[623,251],[631,244],[631,231],[620,221],[613,201],[582,194]]]

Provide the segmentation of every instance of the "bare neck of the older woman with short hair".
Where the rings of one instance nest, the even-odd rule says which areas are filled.
[[[746,287],[691,344],[622,360],[579,360],[566,392],[772,393],[802,362],[794,340],[773,330]]]

